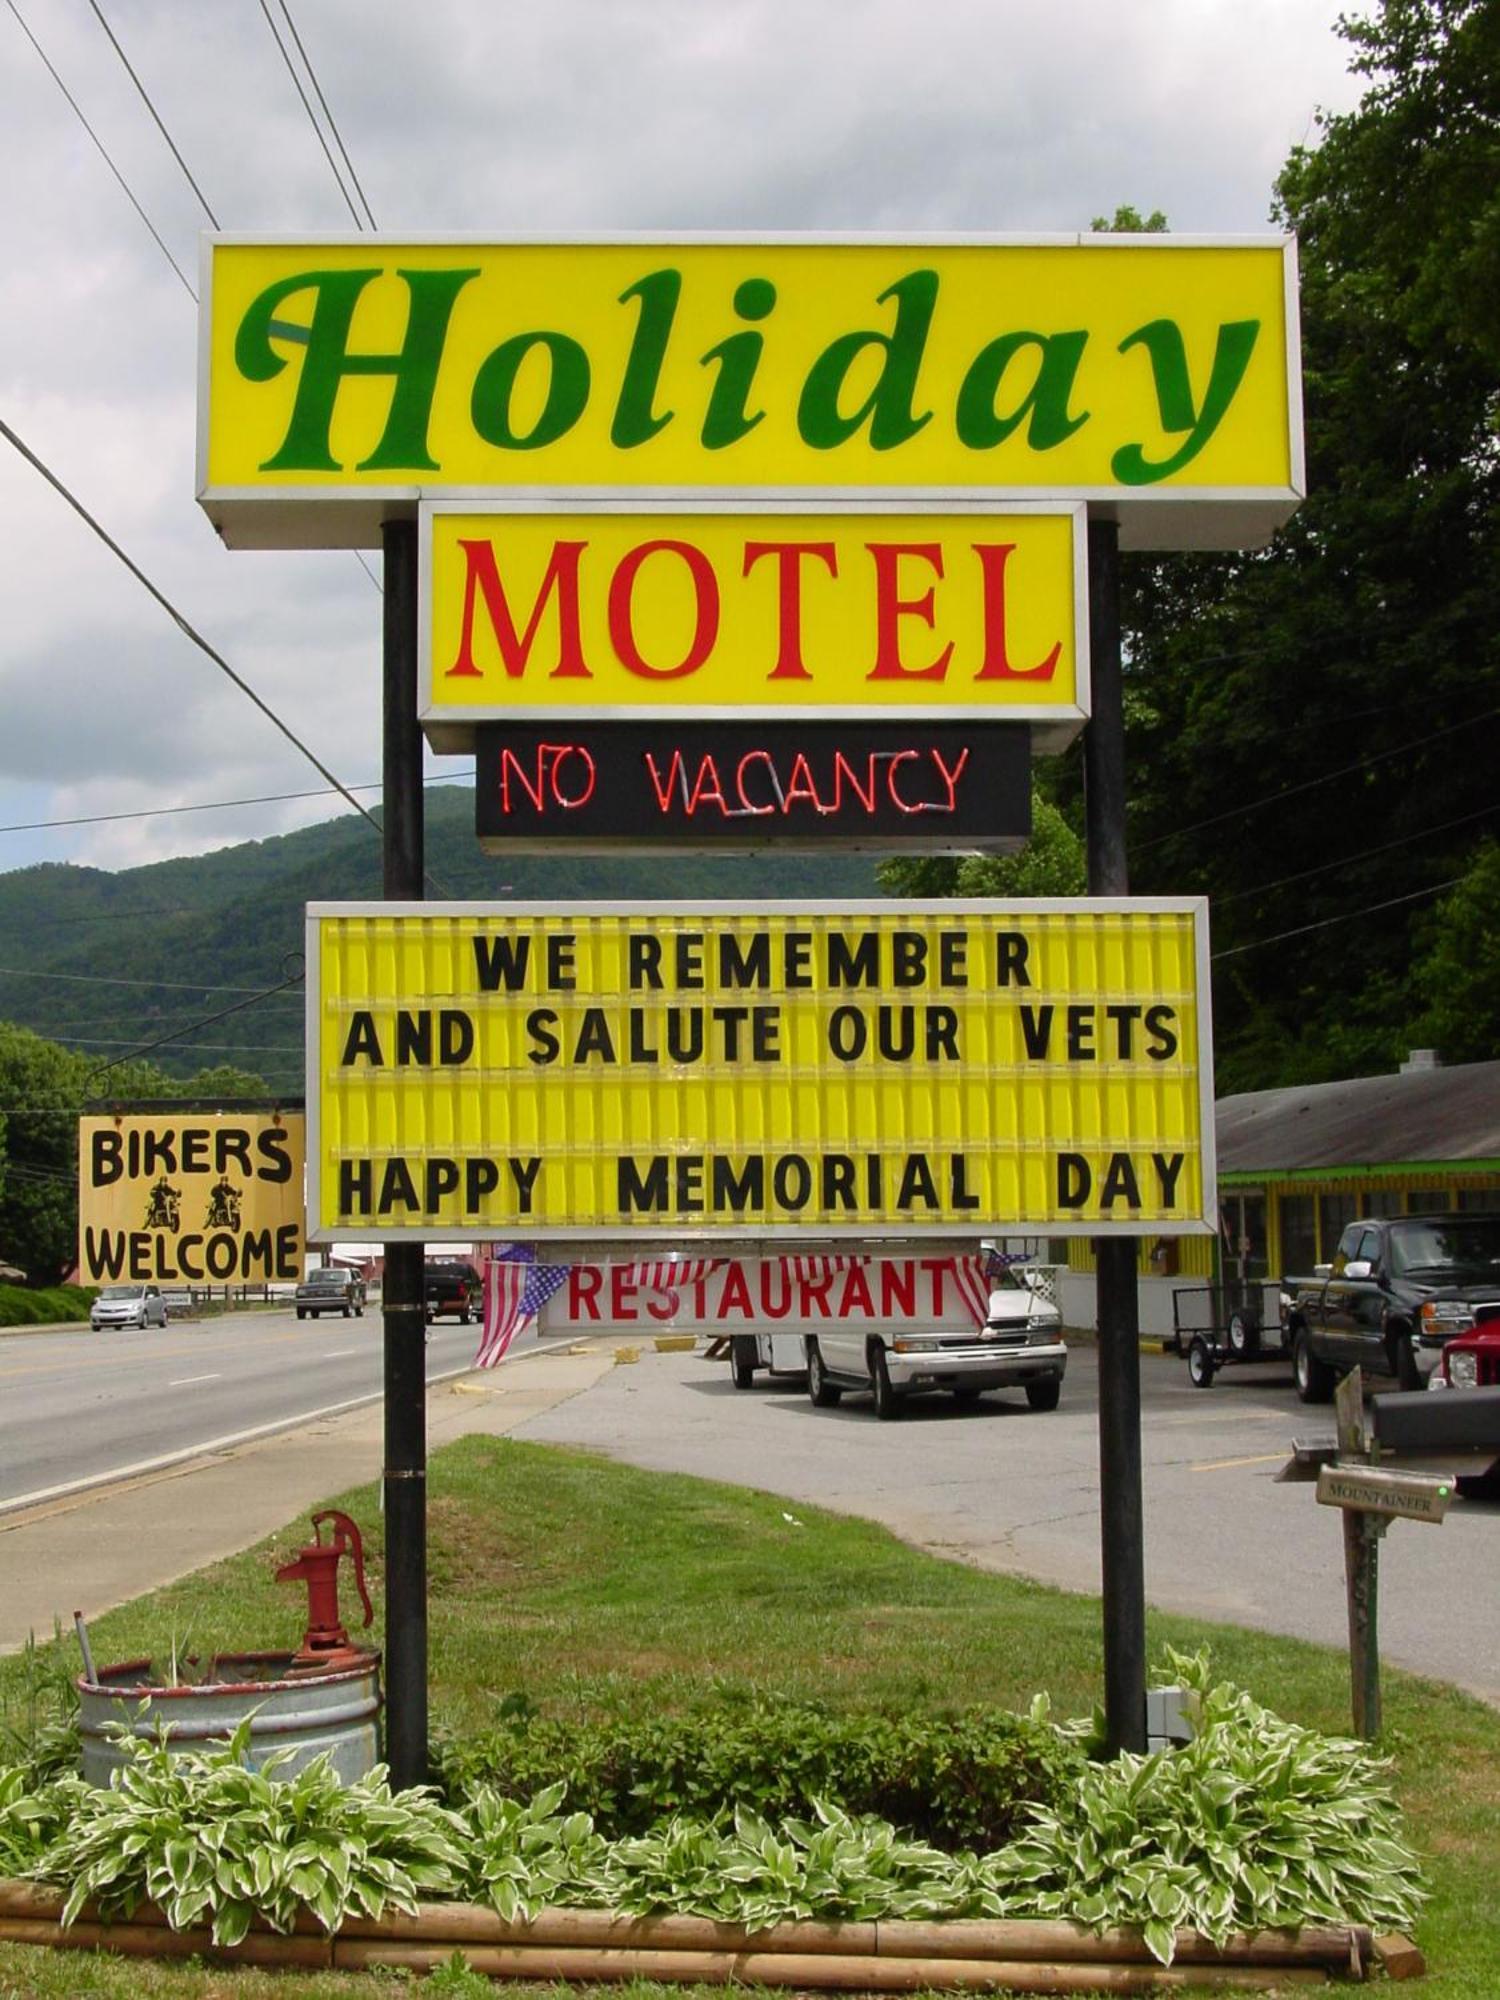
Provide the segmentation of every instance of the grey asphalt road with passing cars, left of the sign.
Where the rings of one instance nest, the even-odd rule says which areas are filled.
[[[476,1326],[438,1320],[428,1380],[460,1374]],[[142,1470],[380,1394],[380,1314],[288,1308],[140,1332],[0,1336],[0,1508]]]

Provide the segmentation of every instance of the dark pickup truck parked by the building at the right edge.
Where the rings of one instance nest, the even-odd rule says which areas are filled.
[[[1500,1214],[1350,1222],[1326,1278],[1282,1278],[1282,1312],[1302,1402],[1356,1364],[1422,1388],[1454,1334],[1500,1312]]]

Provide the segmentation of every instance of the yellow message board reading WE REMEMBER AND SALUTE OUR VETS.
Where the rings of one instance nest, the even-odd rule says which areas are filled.
[[[310,1234],[1196,1234],[1202,900],[312,904]]]

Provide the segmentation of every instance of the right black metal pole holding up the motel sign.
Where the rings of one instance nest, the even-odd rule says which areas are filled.
[[[1124,700],[1120,686],[1120,528],[1088,524],[1084,730],[1088,890],[1128,896]],[[1094,1240],[1098,1458],[1104,1556],[1104,1728],[1110,1754],[1146,1748],[1146,1518],[1140,1498],[1140,1300],[1136,1238]]]

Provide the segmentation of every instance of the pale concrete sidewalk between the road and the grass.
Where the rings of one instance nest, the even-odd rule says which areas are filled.
[[[504,1436],[614,1368],[614,1340],[522,1350],[500,1368],[428,1392],[428,1452]],[[282,1430],[160,1472],[0,1516],[0,1654],[72,1614],[98,1618],[148,1590],[250,1548],[332,1494],[374,1482],[382,1404]],[[374,1496],[372,1496],[374,1504]],[[310,1532],[310,1530],[308,1530]]]

